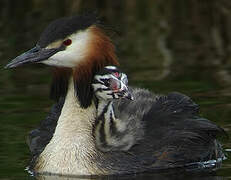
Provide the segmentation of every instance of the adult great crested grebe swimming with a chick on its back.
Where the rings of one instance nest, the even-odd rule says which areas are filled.
[[[122,133],[110,131],[109,138],[107,134],[97,139],[99,131],[105,135],[114,123],[105,124],[98,117],[95,99],[99,94],[94,92],[93,77],[100,76],[105,66],[119,63],[95,16],[52,22],[37,45],[6,68],[29,63],[55,67],[51,96],[57,100],[29,135],[32,171],[109,175],[179,167],[214,169],[221,164],[224,154],[216,137],[223,129],[200,117],[198,105],[180,93],[163,96],[129,88],[133,101],[113,101],[117,130]]]

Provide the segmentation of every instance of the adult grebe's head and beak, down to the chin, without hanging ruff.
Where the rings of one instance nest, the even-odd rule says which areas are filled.
[[[36,46],[16,57],[6,68],[28,63],[75,68],[87,60],[88,64],[118,64],[114,46],[95,15],[64,17],[51,22]]]

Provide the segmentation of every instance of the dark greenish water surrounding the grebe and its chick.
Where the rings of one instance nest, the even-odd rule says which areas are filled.
[[[49,67],[4,65],[32,48],[50,21],[93,11],[113,29],[131,85],[183,92],[230,134],[230,0],[0,0],[0,179],[28,178],[26,136],[53,103]],[[231,177],[229,159],[217,174]]]

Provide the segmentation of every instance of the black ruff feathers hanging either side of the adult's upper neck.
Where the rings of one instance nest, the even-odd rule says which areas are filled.
[[[93,100],[92,80],[93,76],[101,67],[94,64],[90,71],[84,67],[75,69],[72,72],[70,68],[55,68],[53,81],[51,84],[50,96],[51,99],[59,101],[60,98],[66,96],[70,77],[73,76],[75,95],[78,98],[82,108],[88,108]]]

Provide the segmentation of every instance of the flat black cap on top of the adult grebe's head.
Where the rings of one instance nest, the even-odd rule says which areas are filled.
[[[64,39],[75,31],[84,30],[93,24],[99,24],[99,20],[95,14],[57,19],[47,26],[37,44],[40,47],[46,47],[56,40]]]

